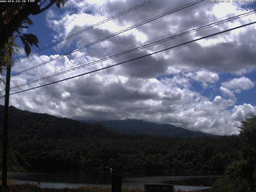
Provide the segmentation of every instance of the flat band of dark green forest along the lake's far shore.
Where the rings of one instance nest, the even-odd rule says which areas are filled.
[[[48,139],[11,142],[33,166],[119,171],[171,171],[222,174],[238,158],[236,136],[218,138],[123,138]]]

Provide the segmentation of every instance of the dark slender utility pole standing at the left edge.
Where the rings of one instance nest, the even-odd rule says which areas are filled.
[[[9,116],[9,96],[10,96],[11,66],[7,67],[5,100],[4,100],[4,129],[3,129],[3,158],[2,158],[2,191],[6,191],[7,186],[7,140],[8,140],[8,116]]]

